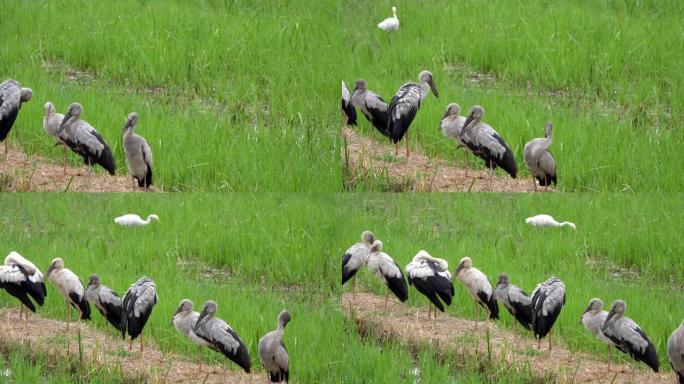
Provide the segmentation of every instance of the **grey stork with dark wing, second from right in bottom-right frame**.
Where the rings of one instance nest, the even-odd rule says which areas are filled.
[[[627,305],[624,301],[615,300],[601,331],[617,349],[636,361],[643,361],[654,372],[658,372],[658,351],[639,325],[629,317],[625,317],[626,309]]]

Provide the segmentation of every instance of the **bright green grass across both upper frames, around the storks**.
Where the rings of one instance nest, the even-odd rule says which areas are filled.
[[[390,41],[376,24],[392,4]],[[0,52],[13,60],[0,72],[34,89],[11,137],[57,161],[42,106],[80,101],[124,172],[135,110],[166,190],[339,191],[339,80],[365,78],[389,100],[421,69],[441,98],[411,131],[432,156],[461,156],[437,130],[445,106],[481,104],[521,168],[525,142],[554,122],[562,190],[684,187],[678,1],[11,1],[3,12]]]

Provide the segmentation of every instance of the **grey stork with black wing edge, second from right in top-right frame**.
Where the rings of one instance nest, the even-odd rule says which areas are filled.
[[[513,151],[494,128],[481,122],[482,116],[484,116],[484,109],[479,105],[470,109],[470,114],[463,123],[461,140],[492,170],[492,175],[498,166],[515,179],[518,166],[515,163]]]

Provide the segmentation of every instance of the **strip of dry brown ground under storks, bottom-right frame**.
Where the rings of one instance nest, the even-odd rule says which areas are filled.
[[[632,369],[625,364],[612,364],[607,371],[607,362],[570,352],[557,338],[553,350],[548,350],[546,340],[541,351],[530,336],[524,337],[510,330],[500,329],[496,323],[481,321],[475,330],[475,322],[439,313],[437,320],[427,319],[425,308],[411,308],[390,300],[384,310],[385,299],[369,293],[342,295],[345,313],[352,316],[359,329],[371,330],[382,339],[394,339],[409,346],[429,343],[437,353],[455,352],[458,356],[485,355],[487,353],[487,329],[492,359],[512,369],[530,371],[540,378],[551,378],[556,383],[632,383]],[[503,308],[502,308],[503,309]],[[481,311],[482,312],[482,311]],[[517,325],[516,325],[517,326]],[[620,352],[614,351],[613,355]],[[638,383],[673,382],[671,373],[654,373],[643,368],[636,372]]]

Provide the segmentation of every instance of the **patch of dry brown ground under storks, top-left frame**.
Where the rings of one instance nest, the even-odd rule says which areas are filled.
[[[9,147],[7,155],[4,144],[0,145],[0,191],[4,192],[141,192],[128,175],[110,176],[97,166],[92,176],[88,168],[52,163],[40,156],[30,158],[21,148]],[[59,148],[59,151],[62,149]],[[154,188],[152,188],[154,191]]]

